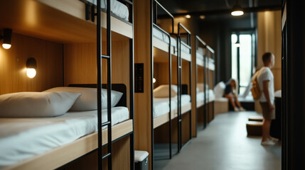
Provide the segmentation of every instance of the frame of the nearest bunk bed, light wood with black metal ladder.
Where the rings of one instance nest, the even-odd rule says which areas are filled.
[[[129,21],[133,21],[133,3],[129,4]],[[97,94],[98,94],[98,132],[85,135],[74,142],[57,147],[44,154],[26,159],[23,162],[6,166],[4,169],[56,169],[75,161],[77,158],[98,150],[98,169],[102,169],[102,159],[108,158],[108,169],[112,169],[112,145],[119,139],[129,136],[130,169],[134,169],[134,40],[133,23],[122,21],[112,16],[110,10],[101,11],[101,3],[97,1],[97,21],[92,23],[85,19],[86,6],[83,1],[71,0],[20,0],[1,1],[0,6],[14,6],[1,8],[0,28],[12,28],[14,33],[33,36],[43,40],[60,43],[97,42]],[[110,1],[107,0],[107,8]],[[95,27],[97,34],[94,34]],[[100,29],[102,28],[102,29]],[[92,34],[93,30],[93,34]],[[103,35],[103,36],[102,36]],[[107,55],[102,55],[102,37],[107,37]],[[101,87],[102,87],[102,58],[107,60],[107,93],[108,108],[111,106],[109,98],[111,87],[111,40],[129,41],[129,120],[111,126],[111,109],[108,109],[108,121],[102,123]],[[102,130],[102,126],[108,128]],[[102,147],[107,147],[108,154],[102,155]]]

